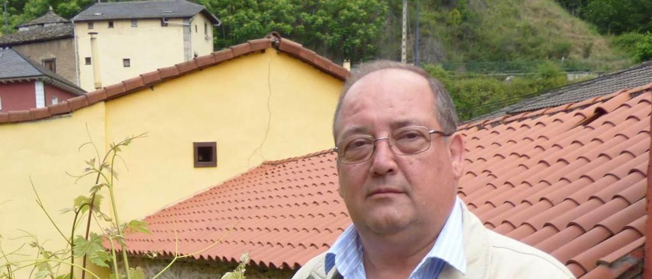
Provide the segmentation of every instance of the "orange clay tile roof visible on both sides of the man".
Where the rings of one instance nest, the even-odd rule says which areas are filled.
[[[557,257],[580,278],[642,265],[652,85],[460,127],[458,194],[494,231]],[[332,152],[265,162],[145,218],[128,252],[296,268],[350,224]],[[175,230],[178,235],[175,237]]]

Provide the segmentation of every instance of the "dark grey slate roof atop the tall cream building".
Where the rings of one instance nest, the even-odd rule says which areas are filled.
[[[72,20],[83,22],[131,18],[190,18],[200,12],[213,24],[220,22],[215,15],[206,10],[206,7],[185,0],[95,3],[77,14]]]

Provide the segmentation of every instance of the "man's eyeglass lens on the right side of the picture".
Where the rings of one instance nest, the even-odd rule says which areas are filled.
[[[394,152],[402,155],[421,153],[430,147],[430,134],[424,127],[406,127],[394,130],[390,140]]]

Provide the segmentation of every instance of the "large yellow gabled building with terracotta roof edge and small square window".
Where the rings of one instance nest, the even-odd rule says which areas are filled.
[[[126,222],[263,160],[332,147],[329,127],[347,75],[314,51],[271,35],[53,106],[0,113],[1,245],[5,252],[18,248],[24,239],[9,239],[24,229],[49,240],[50,249],[65,246],[34,202],[30,180],[68,235],[72,216],[57,211],[95,183],[66,175],[81,173],[84,160],[95,156],[90,145],[79,148],[89,137],[102,154],[112,142],[147,132],[125,148],[128,168],[122,160],[116,165],[116,200]]]

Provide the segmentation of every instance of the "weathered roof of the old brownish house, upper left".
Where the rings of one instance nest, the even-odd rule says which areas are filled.
[[[24,44],[26,42],[54,40],[57,38],[70,38],[72,40],[72,29],[72,23],[63,23],[46,27],[37,27],[26,31],[18,31],[0,37],[0,47]]]

